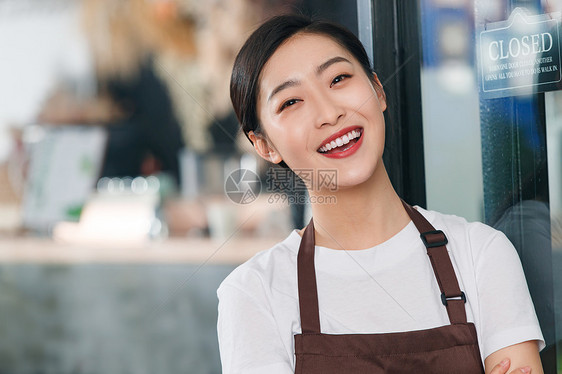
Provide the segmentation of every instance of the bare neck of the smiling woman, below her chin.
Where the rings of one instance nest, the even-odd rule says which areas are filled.
[[[370,248],[390,239],[410,222],[382,165],[359,185],[337,191],[309,191],[309,194],[313,202],[315,242],[319,246],[347,250]],[[327,200],[327,196],[335,199]]]

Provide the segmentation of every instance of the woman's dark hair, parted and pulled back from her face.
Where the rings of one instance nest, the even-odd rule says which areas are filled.
[[[230,78],[230,99],[242,131],[261,133],[256,104],[261,71],[275,51],[298,33],[324,35],[345,48],[372,79],[369,57],[357,37],[335,23],[312,20],[297,15],[276,16],[263,23],[250,35],[238,52]],[[251,142],[251,140],[250,140]],[[284,162],[281,163],[282,166]]]

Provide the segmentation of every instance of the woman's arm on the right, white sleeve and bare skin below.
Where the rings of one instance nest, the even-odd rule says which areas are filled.
[[[475,318],[486,373],[496,374],[492,369],[505,358],[510,359],[510,373],[525,366],[542,373],[538,351],[544,347],[544,339],[515,248],[499,232],[473,241],[478,248],[479,306]]]

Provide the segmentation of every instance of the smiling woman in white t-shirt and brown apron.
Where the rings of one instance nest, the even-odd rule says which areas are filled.
[[[505,236],[394,191],[386,97],[353,34],[271,19],[240,50],[231,99],[261,157],[314,171],[313,220],[221,284],[224,373],[542,373],[543,337]]]

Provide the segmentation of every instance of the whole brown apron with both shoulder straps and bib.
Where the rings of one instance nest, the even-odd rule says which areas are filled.
[[[302,334],[295,335],[296,374],[484,373],[476,328],[467,323],[466,297],[445,247],[447,238],[418,211],[403,204],[421,233],[451,324],[387,334],[322,334],[311,219],[297,260]]]

